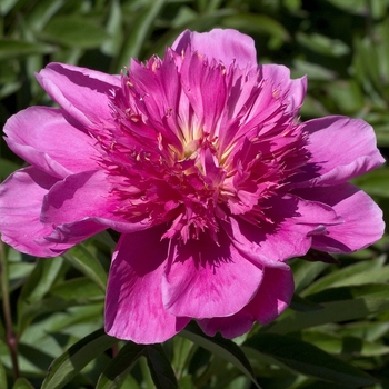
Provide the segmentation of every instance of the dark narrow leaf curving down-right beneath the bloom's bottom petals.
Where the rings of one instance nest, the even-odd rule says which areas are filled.
[[[190,322],[179,335],[229,361],[243,372],[257,388],[260,388],[252,372],[250,362],[240,348],[231,340],[222,338],[219,333],[213,338],[207,337],[193,322]]]

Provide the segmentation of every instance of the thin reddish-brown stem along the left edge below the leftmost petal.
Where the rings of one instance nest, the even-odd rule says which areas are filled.
[[[3,243],[0,240],[0,279],[1,279],[1,293],[2,293],[2,310],[4,315],[6,325],[6,341],[10,351],[12,360],[13,377],[17,380],[20,377],[19,362],[18,362],[18,338],[12,329],[11,307],[9,297],[9,282],[8,282],[8,263],[4,256]]]

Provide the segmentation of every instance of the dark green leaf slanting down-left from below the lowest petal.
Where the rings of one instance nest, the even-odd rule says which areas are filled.
[[[49,368],[41,389],[62,388],[91,360],[118,342],[104,331],[97,330],[58,357]]]

